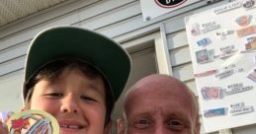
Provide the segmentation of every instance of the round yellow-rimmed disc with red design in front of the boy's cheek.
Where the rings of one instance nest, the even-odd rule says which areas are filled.
[[[9,134],[59,134],[57,120],[42,110],[14,113],[7,121]]]

